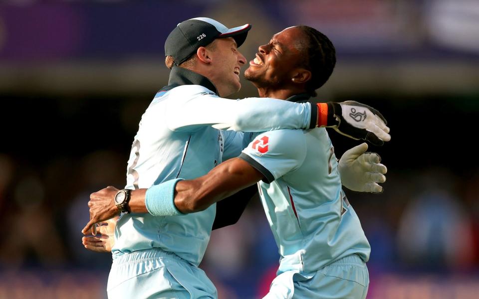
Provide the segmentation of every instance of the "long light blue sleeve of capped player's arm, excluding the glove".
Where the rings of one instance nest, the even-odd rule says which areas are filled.
[[[180,86],[170,93],[174,99],[169,100],[165,117],[173,131],[194,125],[248,132],[316,126],[316,112],[311,113],[310,103],[270,98],[230,100],[197,85]]]

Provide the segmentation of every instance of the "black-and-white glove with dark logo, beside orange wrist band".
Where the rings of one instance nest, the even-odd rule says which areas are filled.
[[[333,119],[332,124],[330,124],[331,119]],[[382,146],[385,141],[391,140],[388,134],[389,128],[386,125],[387,122],[381,113],[367,105],[355,101],[328,103],[327,127],[332,127],[349,138],[362,139],[373,145]]]

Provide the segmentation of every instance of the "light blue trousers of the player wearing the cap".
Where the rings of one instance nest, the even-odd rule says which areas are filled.
[[[200,268],[155,248],[113,260],[109,299],[217,299],[218,293]]]

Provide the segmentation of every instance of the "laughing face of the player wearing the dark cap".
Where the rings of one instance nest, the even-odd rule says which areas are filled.
[[[226,97],[240,90],[240,68],[246,63],[246,58],[238,51],[232,37],[218,38],[214,42],[211,55],[215,74],[211,79],[220,95]]]

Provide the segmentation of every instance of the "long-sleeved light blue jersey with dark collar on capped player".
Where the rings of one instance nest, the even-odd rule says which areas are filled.
[[[172,69],[169,84],[142,116],[128,161],[128,189],[148,188],[177,177],[193,179],[222,160],[238,156],[242,133],[218,128],[265,131],[315,125],[309,103],[222,99],[206,77],[179,67]],[[124,214],[116,225],[113,257],[161,248],[198,265],[210,239],[215,213],[216,204],[182,216]]]

